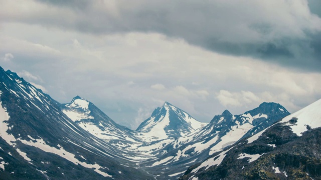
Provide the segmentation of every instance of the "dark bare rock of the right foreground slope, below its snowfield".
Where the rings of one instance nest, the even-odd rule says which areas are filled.
[[[247,142],[242,140],[228,150],[219,165],[195,173],[198,165],[191,166],[180,179],[321,179],[321,128],[297,136],[278,123]],[[255,154],[259,157],[253,160]]]

